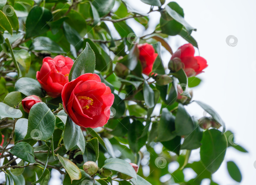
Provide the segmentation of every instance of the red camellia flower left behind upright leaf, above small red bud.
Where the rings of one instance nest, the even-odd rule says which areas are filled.
[[[36,78],[47,94],[53,98],[61,96],[64,85],[68,82],[73,60],[69,57],[58,55],[53,59],[45,57]]]

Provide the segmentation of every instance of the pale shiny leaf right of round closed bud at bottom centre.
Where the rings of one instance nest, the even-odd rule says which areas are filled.
[[[102,168],[106,168],[108,170],[114,170],[119,171],[123,174],[126,174],[128,176],[131,176],[135,179],[137,179],[137,174],[131,164],[126,162],[123,159],[119,158],[109,158],[105,160],[105,164],[102,166]]]

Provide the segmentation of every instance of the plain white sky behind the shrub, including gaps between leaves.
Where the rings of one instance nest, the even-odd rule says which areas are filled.
[[[126,0],[134,8],[143,12],[149,11],[149,5],[139,0]],[[170,2],[170,1],[168,1]],[[229,148],[225,161],[213,175],[215,182],[220,185],[235,185],[228,174],[226,162],[233,160],[241,170],[242,185],[254,184],[256,169],[253,166],[256,160],[255,149],[255,79],[256,59],[254,58],[256,38],[256,11],[255,1],[238,0],[176,0],[184,9],[185,20],[197,28],[192,36],[197,40],[200,56],[208,62],[208,68],[198,75],[203,82],[193,89],[193,99],[203,101],[212,106],[226,123],[227,130],[236,134],[236,143],[244,146],[249,154]],[[150,13],[150,20],[159,20],[160,14]],[[128,21],[134,32],[142,36],[143,28]],[[149,30],[149,33],[153,30]],[[147,32],[148,33],[148,32]],[[238,39],[235,47],[227,45],[226,38],[234,35]],[[187,42],[180,36],[170,37],[169,44],[173,51]],[[230,40],[232,43],[233,41]],[[198,51],[196,51],[198,55]],[[165,65],[170,55],[163,53]],[[195,103],[187,107],[191,115],[198,118],[203,116],[203,110]],[[198,150],[192,152],[191,158],[198,158]],[[56,173],[55,173],[56,172]],[[49,184],[60,184],[58,172],[54,171]],[[186,174],[185,174],[186,176]],[[189,176],[189,174],[187,174]],[[209,181],[202,184],[209,185]]]

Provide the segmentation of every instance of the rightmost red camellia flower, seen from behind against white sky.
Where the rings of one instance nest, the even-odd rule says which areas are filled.
[[[207,61],[200,56],[194,57],[195,50],[192,44],[184,44],[179,47],[179,49],[172,55],[171,61],[173,62],[171,66],[176,68],[180,66],[178,63],[182,63],[182,68],[184,69],[188,77],[198,75],[203,72],[207,65]]]

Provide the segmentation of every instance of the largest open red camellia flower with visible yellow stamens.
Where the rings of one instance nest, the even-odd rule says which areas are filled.
[[[85,128],[102,127],[110,117],[114,95],[101,83],[99,75],[86,73],[64,85],[63,107],[77,125]]]

